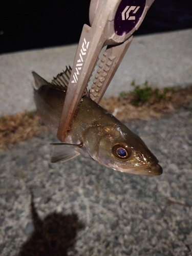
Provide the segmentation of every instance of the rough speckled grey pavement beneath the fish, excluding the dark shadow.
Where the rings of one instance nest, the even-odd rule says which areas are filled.
[[[52,164],[52,135],[0,153],[1,256],[17,255],[33,232],[30,187],[41,218],[74,212],[84,224],[75,255],[192,255],[191,110],[127,126],[157,156],[161,176],[119,173],[82,156]]]

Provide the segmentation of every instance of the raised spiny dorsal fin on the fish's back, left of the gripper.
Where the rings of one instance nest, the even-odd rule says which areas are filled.
[[[67,88],[69,84],[69,79],[71,76],[71,67],[69,68],[66,66],[66,71],[63,71],[62,73],[58,74],[54,79],[51,81],[52,84],[59,87]]]

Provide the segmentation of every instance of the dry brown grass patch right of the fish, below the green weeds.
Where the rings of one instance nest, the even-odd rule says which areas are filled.
[[[160,91],[161,92],[161,91]],[[166,113],[170,113],[180,106],[187,106],[192,100],[192,87],[170,88],[163,99],[152,96],[150,100],[139,106],[133,105],[134,96],[111,97],[101,100],[100,105],[110,111],[119,120],[127,119],[150,119],[160,118]]]

